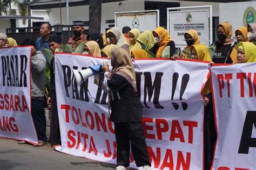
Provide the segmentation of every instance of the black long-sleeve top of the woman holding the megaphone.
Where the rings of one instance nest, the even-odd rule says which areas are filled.
[[[123,76],[114,74],[107,81],[107,86],[112,90],[114,97],[114,100],[111,99],[111,121],[142,122],[142,104],[131,84]]]

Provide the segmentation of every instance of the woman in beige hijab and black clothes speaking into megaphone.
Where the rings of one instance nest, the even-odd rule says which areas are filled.
[[[110,120],[114,122],[117,141],[117,168],[130,164],[130,144],[137,167],[151,169],[142,125],[142,105],[137,95],[136,77],[129,53],[123,48],[111,51],[112,71],[104,63],[102,89],[109,93]]]

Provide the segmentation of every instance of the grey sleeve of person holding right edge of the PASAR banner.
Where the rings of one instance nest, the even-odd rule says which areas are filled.
[[[46,59],[43,54],[36,54],[31,59],[31,66],[37,73],[43,72],[46,65]]]

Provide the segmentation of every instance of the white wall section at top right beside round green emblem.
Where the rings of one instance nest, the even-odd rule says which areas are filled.
[[[219,4],[219,19],[221,22],[230,22],[233,29],[233,37],[235,30],[244,26],[243,16],[246,8],[252,6],[256,10],[256,2],[234,2]],[[256,19],[256,18],[255,18]]]

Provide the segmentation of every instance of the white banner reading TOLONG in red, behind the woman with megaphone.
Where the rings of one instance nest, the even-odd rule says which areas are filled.
[[[55,61],[62,138],[62,146],[56,150],[116,164],[117,144],[113,123],[107,121],[107,94],[93,83],[93,76],[78,87],[72,73],[72,68],[85,69],[106,59],[58,53]],[[134,68],[152,167],[202,169],[201,87],[206,81],[208,63],[136,60]],[[130,167],[136,167],[132,157]]]

